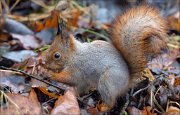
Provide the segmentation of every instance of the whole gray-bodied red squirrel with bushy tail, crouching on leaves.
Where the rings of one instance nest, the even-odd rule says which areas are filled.
[[[96,88],[102,100],[114,106],[127,93],[152,57],[166,48],[167,27],[156,8],[138,6],[115,18],[112,42],[77,41],[60,27],[51,47],[42,54],[51,78],[76,87],[79,94]]]

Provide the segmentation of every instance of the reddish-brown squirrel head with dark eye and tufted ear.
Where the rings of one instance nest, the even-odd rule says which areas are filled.
[[[43,67],[54,72],[63,70],[74,50],[74,37],[69,33],[66,23],[60,19],[58,32],[53,43],[42,53]]]

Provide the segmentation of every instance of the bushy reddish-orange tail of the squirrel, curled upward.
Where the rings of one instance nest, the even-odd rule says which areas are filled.
[[[146,67],[149,58],[166,47],[166,32],[166,22],[157,9],[139,6],[114,20],[111,35],[131,74],[136,74]]]

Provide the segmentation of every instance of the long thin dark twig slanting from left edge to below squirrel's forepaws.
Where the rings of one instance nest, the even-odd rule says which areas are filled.
[[[40,79],[40,78],[37,78],[37,77],[35,77],[35,76],[33,76],[33,75],[29,75],[29,74],[25,73],[24,71],[21,71],[21,70],[18,70],[18,69],[7,68],[7,67],[4,67],[4,66],[0,66],[0,69],[15,71],[15,72],[21,73],[21,74],[23,74],[23,75],[26,75],[27,77],[31,77],[31,78],[33,78],[33,79],[39,80],[39,81],[41,81],[41,82],[44,82],[44,83],[46,83],[46,84],[48,84],[48,85],[51,85],[51,86],[53,86],[53,87],[55,87],[55,88],[58,88],[58,89],[62,90],[62,91],[66,91],[66,90],[67,90],[67,88],[65,88],[65,87],[63,87],[63,86],[54,85],[54,84],[52,84],[52,83],[50,83],[50,82],[48,82],[48,81],[45,81],[45,80]]]

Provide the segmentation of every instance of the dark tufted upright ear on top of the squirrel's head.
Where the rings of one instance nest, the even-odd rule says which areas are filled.
[[[69,38],[67,23],[62,18],[59,19],[57,35],[60,35],[61,39]]]

